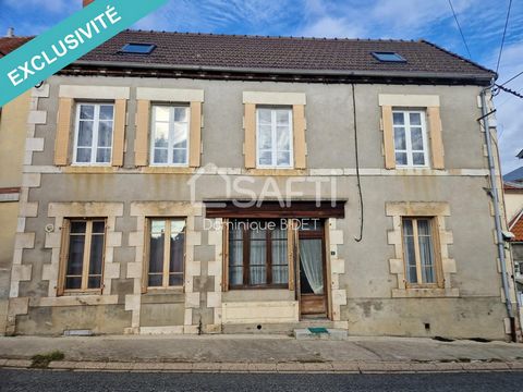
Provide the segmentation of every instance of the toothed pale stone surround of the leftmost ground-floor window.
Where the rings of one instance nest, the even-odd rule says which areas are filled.
[[[122,245],[122,232],[115,231],[117,217],[123,216],[123,203],[49,203],[48,217],[54,218],[53,230],[46,233],[45,248],[52,249],[51,262],[45,264],[41,280],[49,282],[48,299],[40,306],[117,304],[118,295],[111,294],[112,279],[120,278],[120,262],[114,262],[114,247]],[[57,296],[60,273],[60,250],[63,246],[63,220],[69,218],[106,218],[106,246],[104,253],[104,289],[101,294],[68,294]],[[52,299],[51,299],[52,298]]]

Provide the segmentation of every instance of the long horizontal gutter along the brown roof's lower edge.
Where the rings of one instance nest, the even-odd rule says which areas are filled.
[[[169,71],[199,71],[199,72],[224,72],[224,73],[248,73],[248,74],[285,74],[285,75],[311,75],[311,76],[367,76],[367,77],[411,77],[411,78],[435,78],[435,79],[470,79],[489,84],[491,75],[464,74],[464,73],[436,73],[436,72],[410,72],[410,71],[348,71],[348,70],[303,70],[303,69],[251,69],[233,66],[210,66],[210,65],[181,65],[181,64],[158,64],[158,63],[136,63],[123,61],[86,61],[80,60],[70,66],[99,66],[111,69],[137,69],[148,70],[169,70]]]

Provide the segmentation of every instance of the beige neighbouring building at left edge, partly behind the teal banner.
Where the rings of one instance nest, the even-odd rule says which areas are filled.
[[[0,37],[0,58],[28,41],[28,37]],[[14,233],[19,216],[29,112],[31,93],[26,93],[0,108],[0,334],[5,330]]]

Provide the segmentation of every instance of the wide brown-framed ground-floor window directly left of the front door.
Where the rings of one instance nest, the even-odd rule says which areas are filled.
[[[229,221],[229,285],[287,287],[287,220]]]

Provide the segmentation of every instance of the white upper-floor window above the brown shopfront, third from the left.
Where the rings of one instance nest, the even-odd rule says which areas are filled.
[[[292,168],[292,109],[258,108],[257,167]]]

